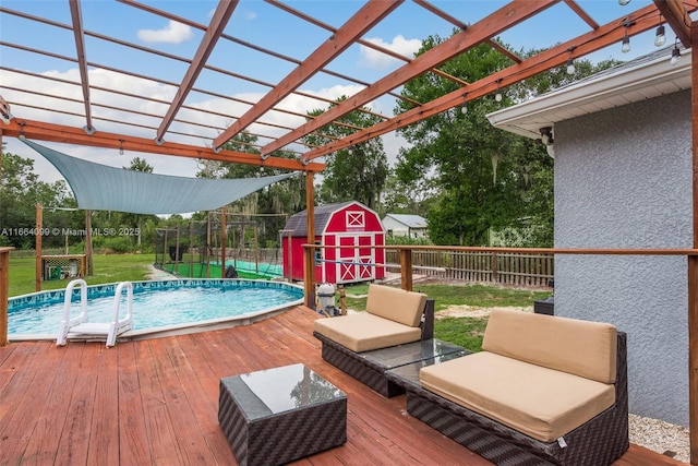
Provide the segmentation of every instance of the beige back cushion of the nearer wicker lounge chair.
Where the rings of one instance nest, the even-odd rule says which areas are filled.
[[[482,349],[602,383],[615,382],[617,332],[607,323],[494,310]]]

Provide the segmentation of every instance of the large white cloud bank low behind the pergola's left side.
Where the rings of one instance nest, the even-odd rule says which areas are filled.
[[[80,80],[80,72],[77,69],[71,69],[65,72],[59,71],[46,71],[45,75],[50,75],[53,79],[58,80],[67,80],[72,82],[77,82]],[[12,113],[15,118],[29,119],[29,120],[38,120],[38,121],[47,121],[53,122],[58,124],[67,124],[69,127],[81,128],[85,124],[84,117],[80,117],[80,115],[84,113],[84,106],[82,101],[82,88],[75,85],[64,84],[59,81],[49,81],[41,80],[38,77],[26,76],[20,73],[12,72],[2,72],[0,73],[0,77],[2,79],[3,84],[8,87],[17,87],[17,88],[26,88],[26,89],[37,89],[41,93],[46,93],[49,95],[60,95],[61,99],[50,98],[50,101],[47,101],[47,97],[40,96],[38,94],[24,94],[8,89],[7,92],[3,89],[3,97],[11,101],[21,101],[26,105],[13,105]],[[163,85],[159,83],[155,83],[147,80],[142,80],[136,76],[130,76],[124,74],[115,73],[109,70],[95,69],[89,70],[89,81],[93,85],[111,88],[115,91],[123,91],[129,94],[134,95],[147,95],[151,97],[155,97],[165,101],[171,100],[177,89],[172,86]],[[335,100],[340,96],[352,96],[363,89],[362,85],[352,84],[352,85],[336,85],[325,88],[304,88],[303,92],[306,94],[316,95],[318,97],[323,97],[325,99]],[[262,93],[240,93],[233,95],[237,98],[244,99],[246,101],[258,101],[262,97]],[[132,124],[142,124],[144,127],[153,127],[157,128],[160,123],[158,118],[152,118],[148,116],[139,116],[134,113],[127,113],[124,111],[120,111],[117,108],[129,108],[132,110],[142,111],[144,113],[153,113],[153,115],[164,115],[167,110],[166,104],[153,103],[147,100],[139,100],[125,95],[106,93],[103,91],[93,89],[92,92],[92,100],[93,100],[93,122],[98,131],[113,132],[113,133],[129,133],[141,138],[153,139],[155,136],[155,131],[153,129],[147,128],[125,128],[122,124],[105,121],[99,118],[105,118],[113,121],[123,121],[128,120],[129,123]],[[98,105],[99,104],[99,105]],[[29,106],[35,106],[36,108],[32,108]],[[69,111],[75,113],[75,116],[61,115],[56,112],[47,112],[41,110],[45,107],[56,108],[57,110]],[[105,107],[108,106],[108,107]],[[225,129],[231,124],[232,118],[226,118],[220,115],[231,115],[231,116],[241,116],[246,110],[249,110],[250,106],[231,101],[229,99],[224,98],[206,98],[200,99],[197,101],[190,101],[188,106],[194,108],[201,108],[204,111],[197,112],[189,109],[180,109],[178,113],[178,118],[188,121],[198,122],[201,124],[212,126],[215,128]],[[312,111],[317,108],[327,108],[329,104],[323,100],[309,99],[306,97],[299,96],[297,94],[291,94],[287,96],[281,103],[277,105],[279,108],[285,108],[292,110],[293,112],[298,112],[304,115],[308,111]],[[109,108],[113,107],[113,108]],[[374,111],[378,109],[378,101],[372,101],[368,105],[368,107],[372,108]],[[206,113],[208,111],[208,113]],[[304,123],[304,118],[299,116],[289,115],[280,111],[272,111],[263,117],[264,121],[267,121],[272,124],[278,124],[288,128],[296,128],[300,124]],[[172,131],[183,131],[183,132],[192,132],[192,127],[184,127],[183,123],[173,122],[170,127]],[[274,126],[262,126],[262,124],[253,124],[250,128],[251,131],[260,134],[265,134],[270,138],[278,138],[287,132],[287,130],[275,128]],[[196,129],[197,136],[184,136],[178,135],[173,132],[169,132],[166,134],[165,139],[169,142],[178,142],[184,144],[194,144],[200,146],[206,146],[212,143],[213,139],[215,139],[220,131],[212,128],[200,127]],[[22,144],[14,138],[7,138],[3,140],[8,143],[8,151],[17,154],[22,157],[27,157],[35,160],[35,172],[39,175],[43,181],[56,181],[62,179],[62,176],[53,168],[44,157],[32,151],[28,146]],[[260,144],[266,144],[270,140],[267,138],[260,138]],[[141,157],[146,159],[148,164],[151,164],[156,174],[161,175],[176,175],[176,176],[185,176],[191,177],[194,176],[197,167],[196,162],[194,159],[185,158],[185,157],[171,157],[165,155],[156,155],[156,154],[142,154],[135,153],[127,150],[123,155],[119,154],[118,150],[112,148],[99,148],[99,147],[89,147],[89,146],[75,146],[75,145],[67,145],[67,144],[58,144],[51,142],[41,142],[38,141],[39,144],[47,145],[49,147],[53,147],[57,151],[63,152],[65,154],[72,155],[74,157],[88,159],[92,162],[96,162],[98,164],[110,165],[116,167],[128,166],[133,159],[133,157]],[[299,151],[308,151],[306,147],[302,147],[300,145],[291,144],[292,148]],[[392,147],[392,144],[386,146],[390,148],[390,153],[395,152]],[[320,160],[318,160],[320,162]]]

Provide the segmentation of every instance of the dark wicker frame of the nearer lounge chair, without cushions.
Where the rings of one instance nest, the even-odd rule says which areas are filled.
[[[419,383],[401,383],[407,389],[410,415],[497,465],[610,465],[629,446],[626,357],[626,335],[619,332],[616,403],[566,434],[565,447],[525,435],[429,392]]]

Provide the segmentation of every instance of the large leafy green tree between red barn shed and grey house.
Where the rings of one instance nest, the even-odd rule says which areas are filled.
[[[441,41],[430,37],[420,53]],[[508,64],[508,58],[480,45],[442,68],[472,82]],[[423,75],[407,83],[402,95],[423,101],[457,88],[453,81]],[[540,151],[529,154],[520,139],[492,129],[485,115],[501,105],[491,97],[481,98],[400,131],[412,146],[398,155],[398,178],[407,183],[431,178],[440,187],[437,204],[428,214],[430,238],[437,244],[486,244],[491,228],[527,215],[522,166],[545,163],[546,156]],[[409,108],[409,100],[401,100],[396,110]]]

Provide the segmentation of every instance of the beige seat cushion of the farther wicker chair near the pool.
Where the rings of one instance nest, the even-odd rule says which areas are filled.
[[[317,319],[313,322],[313,330],[356,353],[418,342],[422,337],[419,327],[368,312]]]

